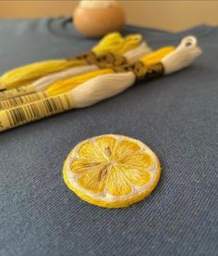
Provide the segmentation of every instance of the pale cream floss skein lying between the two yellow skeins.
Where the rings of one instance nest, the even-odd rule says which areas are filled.
[[[131,64],[139,60],[142,56],[146,56],[151,52],[151,48],[145,43],[142,42],[138,47],[131,49],[123,54],[123,57],[127,60],[127,63]],[[16,96],[24,96],[29,95],[35,92],[42,92],[46,90],[46,88],[56,81],[67,79],[69,77],[78,76],[80,74],[92,71],[99,70],[100,67],[97,65],[88,65],[81,66],[77,68],[70,68],[61,72],[55,72],[53,74],[44,76],[30,85],[21,86],[15,89],[6,90],[4,92],[0,92],[0,100],[8,99]]]

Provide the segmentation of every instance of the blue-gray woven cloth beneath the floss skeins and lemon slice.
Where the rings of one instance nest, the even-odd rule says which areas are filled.
[[[1,19],[0,72],[68,58],[95,45],[72,20]],[[218,255],[218,27],[141,32],[153,49],[197,35],[203,55],[188,69],[91,108],[0,134],[0,255]],[[62,178],[67,153],[99,134],[125,134],[159,156],[149,198],[126,209],[92,206]]]

